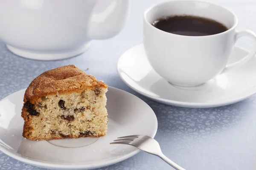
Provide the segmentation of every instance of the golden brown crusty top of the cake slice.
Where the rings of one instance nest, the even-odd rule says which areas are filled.
[[[44,72],[36,77],[26,89],[24,102],[36,102],[42,96],[69,94],[90,88],[108,88],[102,81],[87,75],[75,65],[66,65]]]

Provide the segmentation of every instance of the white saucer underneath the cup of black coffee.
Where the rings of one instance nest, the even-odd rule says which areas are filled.
[[[229,63],[247,54],[248,51],[235,47]],[[239,102],[256,92],[256,58],[235,71],[218,75],[204,85],[193,88],[177,87],[160,77],[151,68],[143,45],[137,45],[122,54],[117,69],[121,79],[134,91],[167,105],[217,107]]]

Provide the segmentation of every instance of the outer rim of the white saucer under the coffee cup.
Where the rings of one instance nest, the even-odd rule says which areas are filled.
[[[252,96],[253,94],[256,93],[256,90],[249,93],[248,95],[246,96],[243,96],[243,97],[240,97],[238,99],[231,99],[231,100],[227,100],[225,102],[207,102],[207,103],[203,103],[203,102],[180,102],[180,101],[175,101],[175,100],[170,100],[170,99],[164,99],[164,98],[160,98],[160,97],[155,97],[155,96],[152,96],[150,94],[146,94],[140,90],[138,90],[137,88],[134,88],[132,85],[130,85],[127,81],[125,81],[125,79],[123,79],[122,75],[121,75],[121,71],[120,71],[120,62],[121,60],[125,57],[125,54],[128,53],[128,51],[131,51],[132,49],[134,48],[144,48],[143,47],[143,43],[140,43],[138,45],[134,45],[132,46],[131,48],[129,48],[128,50],[126,50],[125,52],[123,52],[121,54],[121,57],[119,57],[118,59],[118,62],[117,62],[117,72],[119,74],[119,77],[120,79],[122,79],[122,81],[128,85],[128,87],[130,87],[131,89],[133,89],[134,91],[136,91],[137,93],[139,94],[142,94],[143,96],[146,96],[148,97],[149,99],[152,99],[156,102],[160,102],[160,103],[163,103],[163,104],[166,104],[166,105],[172,105],[172,106],[178,106],[178,107],[183,107],[183,108],[212,108],[212,107],[220,107],[220,106],[224,106],[224,105],[231,105],[231,104],[234,104],[236,102],[240,102],[250,96]],[[245,48],[241,48],[241,47],[238,47],[238,46],[234,46],[234,48],[238,48],[242,51],[246,51],[247,53],[249,53],[249,51]],[[234,50],[233,48],[233,50]],[[159,75],[160,76],[160,75]],[[161,76],[160,76],[161,77]],[[136,82],[136,81],[134,81]],[[136,83],[137,84],[137,83]],[[143,88],[143,87],[142,87]],[[145,89],[145,88],[144,88]],[[251,88],[250,88],[251,89]],[[249,89],[247,89],[249,90]]]

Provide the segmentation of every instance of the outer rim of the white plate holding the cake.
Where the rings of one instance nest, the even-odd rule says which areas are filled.
[[[127,92],[127,91],[124,91],[124,90],[121,90],[119,88],[115,88],[115,87],[112,87],[112,86],[108,86],[108,89],[113,89],[113,90],[117,90],[117,91],[121,91],[121,92],[124,92],[125,94],[128,94],[128,95],[131,95],[131,96],[134,96],[136,97],[137,99],[140,99],[139,97]],[[6,99],[7,97],[15,94],[15,93],[18,93],[20,91],[25,91],[26,88],[24,89],[21,89],[21,90],[18,90],[18,91],[15,91],[13,92],[12,94],[9,94],[7,96],[5,96],[3,99],[0,100],[0,102],[2,102],[4,99]],[[143,103],[145,103],[146,105],[148,105],[146,102],[144,102],[142,99],[140,99]],[[152,112],[154,113],[153,109],[148,105],[148,107],[152,110]],[[153,114],[155,120],[156,120],[156,127],[154,129],[154,133],[153,135],[151,136],[152,138],[155,137],[156,133],[157,133],[157,129],[158,129],[158,121],[157,121],[157,116],[156,114],[154,113]],[[118,162],[121,162],[121,161],[124,161],[128,158],[131,158],[132,156],[136,155],[137,153],[139,153],[141,150],[140,149],[137,149],[132,151],[131,153],[128,153],[124,156],[120,156],[116,159],[113,159],[111,161],[104,161],[102,163],[98,163],[96,165],[93,165],[93,164],[54,164],[54,163],[46,163],[46,162],[39,162],[39,161],[36,161],[36,160],[32,160],[32,159],[26,159],[24,157],[21,156],[17,156],[15,155],[14,153],[11,153],[9,152],[8,150],[6,150],[4,147],[0,147],[0,151],[3,152],[4,154],[6,154],[7,156],[10,156],[12,157],[13,159],[16,159],[18,161],[21,161],[23,163],[26,163],[26,164],[30,164],[32,166],[35,166],[35,167],[43,167],[43,168],[49,168],[49,169],[83,169],[83,170],[90,170],[90,169],[95,169],[95,168],[101,168],[101,167],[107,167],[107,166],[110,166],[112,164],[116,164]]]

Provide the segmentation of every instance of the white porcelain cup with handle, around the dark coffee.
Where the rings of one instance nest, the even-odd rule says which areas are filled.
[[[209,36],[182,36],[155,28],[151,24],[163,16],[194,15],[222,23],[228,30]],[[237,18],[228,9],[196,0],[173,0],[158,3],[144,14],[143,43],[154,70],[168,82],[178,86],[201,85],[218,74],[235,69],[256,54],[256,34],[237,31]],[[227,65],[236,41],[250,37],[254,49],[243,59]]]

